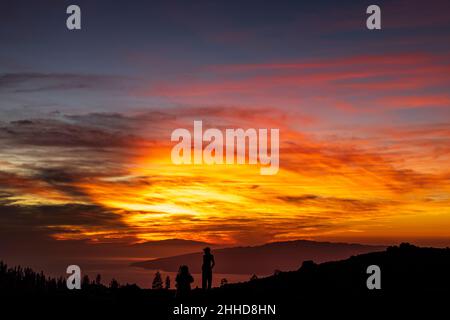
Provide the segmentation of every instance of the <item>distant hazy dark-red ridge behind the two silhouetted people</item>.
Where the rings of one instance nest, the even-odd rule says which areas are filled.
[[[293,270],[305,260],[318,263],[348,258],[352,255],[384,250],[385,246],[296,240],[273,242],[261,246],[215,249],[215,273],[269,275],[274,270]],[[191,272],[201,273],[202,253],[140,261],[132,266],[176,272],[186,264]]]

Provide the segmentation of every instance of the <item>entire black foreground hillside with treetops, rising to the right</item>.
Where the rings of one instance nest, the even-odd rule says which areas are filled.
[[[366,287],[369,276],[366,269],[373,264],[381,268],[381,290],[368,290]],[[174,290],[144,290],[134,285],[106,287],[95,281],[76,291],[61,288],[58,285],[60,281],[56,281],[54,286],[23,286],[20,283],[25,279],[14,279],[5,268],[1,270],[1,300],[8,306],[38,304],[54,312],[73,306],[76,310],[89,307],[115,315],[120,311],[128,315],[142,311],[156,316],[156,319],[174,319],[170,311],[179,303],[275,304],[279,319],[292,319],[293,315],[300,313],[366,318],[361,310],[372,315],[384,312],[404,314],[419,306],[431,311],[446,306],[450,299],[450,249],[419,248],[409,244],[342,261],[304,262],[295,271],[280,272],[245,283],[226,284],[207,293],[192,290],[183,300],[176,300]],[[212,318],[209,315],[208,319]]]

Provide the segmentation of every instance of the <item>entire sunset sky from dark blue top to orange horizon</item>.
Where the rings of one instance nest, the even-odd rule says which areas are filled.
[[[450,5],[370,4],[2,1],[2,245],[450,246]],[[279,128],[278,174],[172,164],[194,120]]]

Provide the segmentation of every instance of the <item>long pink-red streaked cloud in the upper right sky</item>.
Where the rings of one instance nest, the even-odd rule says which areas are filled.
[[[365,112],[374,102],[381,106],[377,110],[383,110],[383,106],[422,108],[430,103],[445,106],[448,98],[440,91],[449,84],[446,56],[405,53],[215,65],[170,82],[152,82],[137,94],[191,105],[265,105],[302,110],[331,107]],[[427,93],[431,88],[437,93]],[[409,97],[412,92],[414,99]],[[326,104],[314,103],[320,100]]]

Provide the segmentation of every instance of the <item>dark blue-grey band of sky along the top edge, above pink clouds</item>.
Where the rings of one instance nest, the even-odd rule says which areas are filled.
[[[81,7],[80,31],[66,29],[69,4]],[[412,30],[421,37],[448,35],[450,22],[443,14],[448,12],[448,2],[378,1],[384,27],[378,34],[365,29],[369,4],[372,2],[323,0],[3,1],[1,55],[14,58],[27,71],[145,73],[152,77],[208,63],[373,52],[374,43],[378,43],[378,52],[397,50],[406,41],[392,42],[391,38],[408,40]],[[145,57],[147,63],[139,57]]]

